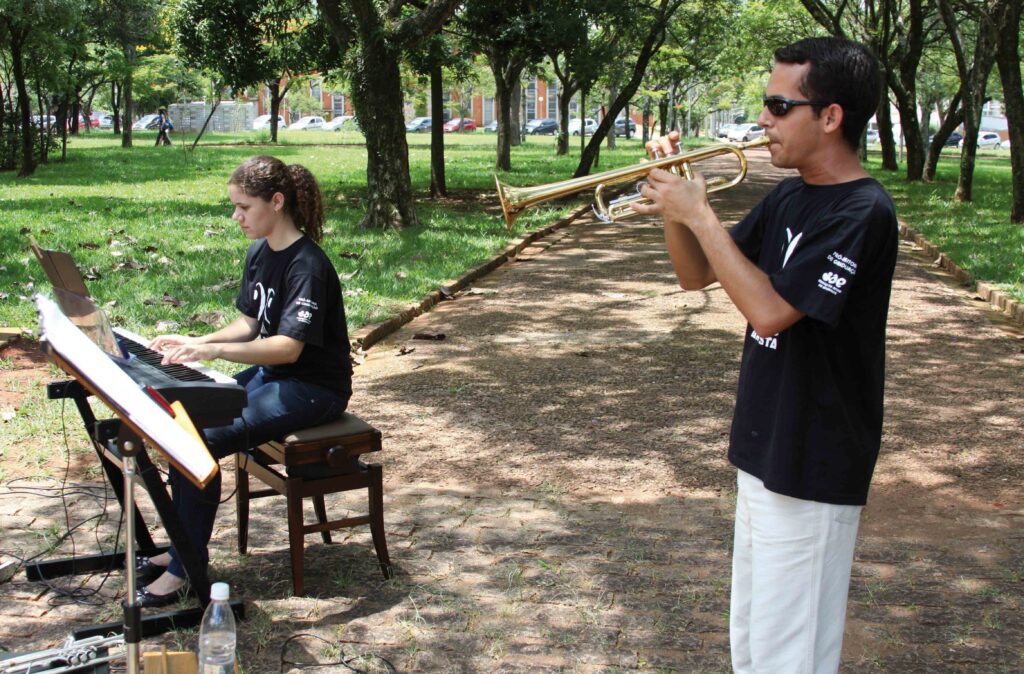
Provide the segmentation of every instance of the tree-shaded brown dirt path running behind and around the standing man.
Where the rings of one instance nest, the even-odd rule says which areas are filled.
[[[719,199],[723,219],[778,179],[765,160]],[[1024,341],[908,248],[896,273],[843,671],[1021,671]],[[225,505],[213,576],[251,600],[247,671],[284,671],[281,646],[300,633],[330,645],[300,639],[291,660],[340,646],[403,672],[728,671],[725,450],[742,329],[721,289],[679,291],[658,227],[587,221],[375,346],[351,408],[385,433],[397,578],[380,578],[366,533],[310,537],[313,595],[290,597],[282,504],[255,506],[241,559]],[[76,498],[76,514],[98,507]],[[25,551],[63,517],[3,492],[0,514],[3,548]],[[117,614],[113,600],[52,607],[24,580],[3,588],[6,647]]]

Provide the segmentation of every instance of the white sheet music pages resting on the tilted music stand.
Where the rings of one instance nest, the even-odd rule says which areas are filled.
[[[106,353],[75,327],[52,300],[37,295],[36,308],[43,339],[99,389],[116,406],[116,412],[127,414],[155,449],[166,454],[200,482],[206,482],[213,475],[217,462],[206,446],[181,428]]]

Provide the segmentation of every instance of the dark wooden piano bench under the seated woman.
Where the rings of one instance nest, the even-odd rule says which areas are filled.
[[[303,593],[304,539],[319,532],[325,543],[331,532],[370,524],[377,561],[384,578],[391,578],[391,561],[384,540],[384,491],[378,464],[366,464],[359,456],[381,449],[381,432],[353,414],[291,433],[247,452],[236,454],[236,505],[239,516],[239,552],[245,554],[249,542],[249,502],[267,496],[284,496],[288,501],[288,544],[292,553],[292,587]],[[249,476],[269,489],[250,491]],[[366,489],[369,514],[328,521],[324,497],[328,494]],[[312,497],[316,523],[306,524],[302,500]]]

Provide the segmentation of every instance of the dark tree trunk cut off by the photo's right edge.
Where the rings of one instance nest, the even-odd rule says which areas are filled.
[[[1007,2],[998,16],[998,46],[995,62],[1002,83],[1002,102],[1007,108],[1010,130],[1010,165],[1013,179],[1013,205],[1010,221],[1024,223],[1024,91],[1021,85],[1020,25],[1021,3]]]

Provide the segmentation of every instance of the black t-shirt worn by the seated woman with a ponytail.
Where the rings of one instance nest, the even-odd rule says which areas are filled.
[[[351,394],[341,283],[312,240],[302,237],[280,251],[265,239],[250,246],[234,304],[259,322],[260,338],[285,335],[304,344],[295,363],[264,366],[270,379],[294,378]]]

